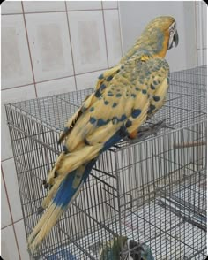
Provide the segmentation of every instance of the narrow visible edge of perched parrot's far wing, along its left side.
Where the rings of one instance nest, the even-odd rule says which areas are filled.
[[[115,67],[107,70],[106,72],[100,74],[98,81],[95,87],[95,93],[86,96],[84,103],[80,106],[78,111],[71,117],[71,119],[65,125],[62,134],[60,135],[58,143],[60,144],[63,140],[71,133],[71,129],[79,119],[79,117],[83,114],[85,110],[87,110],[90,105],[96,100],[96,96],[99,96],[100,93],[105,89],[106,83],[112,80],[116,73],[120,71],[121,65],[116,65]]]

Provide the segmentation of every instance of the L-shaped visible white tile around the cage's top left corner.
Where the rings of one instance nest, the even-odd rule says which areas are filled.
[[[34,86],[26,86],[21,88],[11,88],[2,90],[2,160],[13,157],[11,149],[11,138],[9,133],[9,128],[6,123],[6,113],[4,104],[5,103],[14,103],[21,100],[35,98]]]

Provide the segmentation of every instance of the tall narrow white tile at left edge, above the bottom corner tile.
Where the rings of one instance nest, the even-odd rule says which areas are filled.
[[[23,218],[23,215],[19,196],[18,177],[15,169],[14,159],[12,158],[2,162],[2,167],[4,172],[5,188],[7,190],[9,203],[11,206],[11,215],[13,221],[15,222]]]

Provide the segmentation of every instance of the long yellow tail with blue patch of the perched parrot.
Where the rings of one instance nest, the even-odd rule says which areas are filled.
[[[63,180],[56,195],[52,199],[51,203],[49,203],[47,210],[44,212],[28,238],[28,249],[32,254],[41,244],[41,241],[43,241],[47,236],[52,226],[56,224],[56,221],[62,215],[63,211],[65,211],[74,201],[81,187],[83,187],[85,180],[89,176],[95,162],[96,158],[91,160],[85,166],[82,165],[82,167],[71,172]]]

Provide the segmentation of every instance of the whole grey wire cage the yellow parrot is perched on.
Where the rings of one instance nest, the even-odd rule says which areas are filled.
[[[93,88],[5,106],[26,236],[41,218],[42,185],[62,150],[64,123]],[[32,259],[99,259],[124,235],[154,259],[206,256],[206,66],[171,73],[167,102],[146,126],[167,127],[100,155],[71,207]]]

